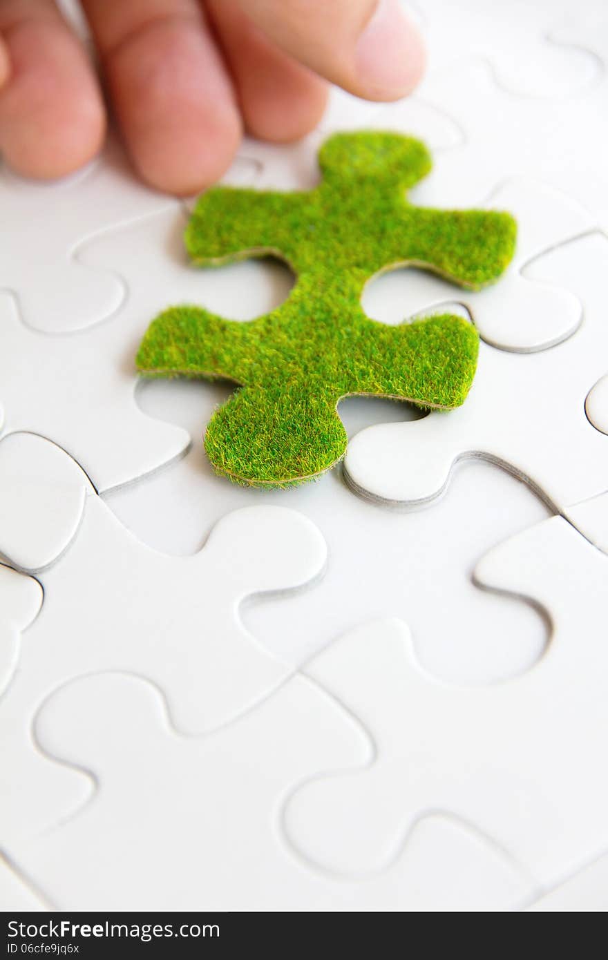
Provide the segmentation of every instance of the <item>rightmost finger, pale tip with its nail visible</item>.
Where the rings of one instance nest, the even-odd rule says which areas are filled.
[[[397,100],[420,80],[425,50],[399,0],[239,0],[290,57],[367,100]]]

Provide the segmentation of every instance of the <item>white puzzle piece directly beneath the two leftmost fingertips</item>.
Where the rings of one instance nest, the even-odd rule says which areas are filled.
[[[114,138],[101,156],[65,180],[44,183],[0,171],[0,289],[12,291],[23,322],[36,330],[81,330],[125,299],[120,263],[105,273],[80,263],[96,233],[177,201],[145,186]]]

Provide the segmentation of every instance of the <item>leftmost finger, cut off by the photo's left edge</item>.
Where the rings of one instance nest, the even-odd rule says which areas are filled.
[[[104,138],[104,105],[85,50],[52,0],[3,0],[0,35],[0,151],[25,176],[62,177]]]

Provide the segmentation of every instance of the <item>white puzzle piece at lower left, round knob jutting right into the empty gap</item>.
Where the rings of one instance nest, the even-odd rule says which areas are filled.
[[[36,452],[43,465],[48,441],[29,441],[25,462],[37,476]],[[69,480],[73,463],[63,456]],[[36,499],[35,488],[25,489]],[[61,485],[56,494],[61,500]],[[19,492],[15,504],[25,508]],[[43,791],[36,789],[49,764],[36,751],[31,725],[53,689],[79,674],[128,670],[158,684],[182,731],[229,723],[293,673],[244,629],[239,605],[258,592],[302,587],[326,562],[315,525],[280,507],[245,507],[224,516],[201,552],[180,558],[134,540],[94,493],[83,514],[69,548],[42,577],[42,611],[0,698],[0,822],[10,835],[36,828],[40,818],[52,822],[57,810],[82,802],[80,792],[72,798],[82,783],[59,767],[47,771]]]

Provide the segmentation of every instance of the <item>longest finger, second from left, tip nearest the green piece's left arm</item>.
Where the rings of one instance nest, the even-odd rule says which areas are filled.
[[[241,121],[196,0],[84,0],[109,94],[144,180],[176,194],[218,180]]]

